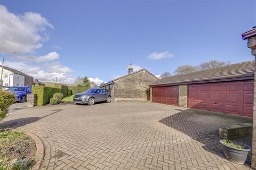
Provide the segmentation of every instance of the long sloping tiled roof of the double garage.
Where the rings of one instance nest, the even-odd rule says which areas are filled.
[[[171,84],[191,84],[203,81],[222,80],[226,81],[231,78],[253,79],[254,77],[254,61],[247,61],[243,63],[230,64],[220,66],[213,69],[196,71],[186,74],[173,75],[156,81],[149,86],[161,86]]]

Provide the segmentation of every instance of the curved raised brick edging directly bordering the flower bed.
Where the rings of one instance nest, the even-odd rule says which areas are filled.
[[[38,170],[42,166],[43,159],[44,159],[44,144],[36,135],[25,132],[29,137],[31,137],[36,143],[36,164],[31,168],[31,170]]]

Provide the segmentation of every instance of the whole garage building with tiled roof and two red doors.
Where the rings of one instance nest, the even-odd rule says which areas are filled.
[[[150,101],[253,116],[254,61],[173,75],[150,86]]]

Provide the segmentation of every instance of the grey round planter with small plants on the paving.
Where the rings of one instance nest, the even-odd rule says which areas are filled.
[[[243,144],[242,142],[230,141],[230,140],[220,140],[221,148],[228,160],[236,164],[244,164],[251,147]]]

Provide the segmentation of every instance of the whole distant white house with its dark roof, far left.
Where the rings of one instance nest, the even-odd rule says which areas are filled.
[[[0,65],[0,84],[3,86],[31,86],[33,85],[33,77],[22,73],[18,70],[4,66],[3,80],[1,81],[2,65]]]

